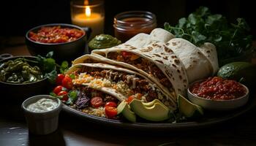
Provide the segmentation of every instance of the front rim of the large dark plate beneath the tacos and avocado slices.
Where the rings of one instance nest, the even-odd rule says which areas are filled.
[[[96,123],[105,126],[113,126],[116,128],[124,128],[124,129],[140,129],[143,131],[178,131],[178,130],[187,130],[192,128],[204,128],[208,126],[213,126],[218,123],[223,123],[232,118],[236,118],[239,115],[244,114],[245,112],[255,107],[256,104],[256,95],[253,94],[249,97],[249,101],[244,107],[240,107],[236,110],[232,110],[229,112],[209,112],[205,111],[205,115],[203,118],[197,120],[190,120],[181,123],[128,123],[122,120],[111,120],[108,118],[101,118],[94,115],[89,115],[78,110],[74,110],[67,105],[63,106],[63,110],[68,112],[71,115],[76,115],[83,120],[89,121],[91,123]]]

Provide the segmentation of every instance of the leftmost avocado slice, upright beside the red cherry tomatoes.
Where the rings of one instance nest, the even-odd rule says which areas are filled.
[[[124,115],[124,118],[131,122],[136,122],[136,115],[135,112],[132,112],[131,108],[129,107],[129,104],[127,104],[127,101],[121,101],[121,103],[117,107],[117,114]]]

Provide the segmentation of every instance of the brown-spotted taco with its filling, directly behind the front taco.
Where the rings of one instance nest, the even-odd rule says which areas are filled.
[[[142,48],[123,44],[109,49],[94,50],[93,55],[83,55],[73,64],[86,63],[95,59],[143,74],[174,101],[178,94],[186,94],[188,80],[184,66],[164,43],[155,42]]]

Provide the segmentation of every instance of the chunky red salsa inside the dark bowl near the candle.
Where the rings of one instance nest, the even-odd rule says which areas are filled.
[[[62,43],[72,42],[84,34],[77,28],[61,28],[61,26],[42,27],[39,31],[29,32],[29,38],[35,42]]]

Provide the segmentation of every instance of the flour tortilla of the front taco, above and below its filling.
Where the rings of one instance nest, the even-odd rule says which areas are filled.
[[[165,91],[163,91],[161,88],[159,88],[159,86],[157,86],[154,82],[149,80],[148,77],[146,77],[143,74],[140,74],[138,72],[134,72],[132,70],[129,70],[129,69],[125,69],[125,68],[122,68],[122,67],[119,67],[119,66],[113,66],[113,65],[110,65],[110,64],[101,64],[101,63],[97,63],[97,64],[95,64],[95,63],[93,63],[93,64],[75,64],[74,66],[71,66],[67,70],[67,72],[65,72],[65,74],[72,74],[72,72],[75,72],[76,69],[79,69],[83,66],[88,66],[88,67],[91,67],[91,68],[99,68],[99,69],[110,69],[110,70],[115,70],[115,71],[118,71],[118,72],[127,72],[128,74],[136,74],[137,76],[140,76],[143,79],[146,79],[148,82],[151,83],[151,85],[154,85],[154,88],[157,88],[162,93],[162,95],[167,97],[168,104],[170,104],[167,107],[169,107],[170,110],[176,110],[176,107],[177,107],[176,101],[169,98],[169,96],[167,95],[167,93],[165,93]],[[89,83],[86,83],[86,84],[83,84],[83,85],[89,86]],[[90,87],[90,88],[92,88],[92,87]],[[116,89],[113,89],[113,88],[101,87],[101,88],[94,88],[94,89],[99,90],[99,91],[103,91],[105,93],[108,93],[109,95],[116,97],[116,99],[118,99],[119,101],[123,101],[123,100],[127,99],[126,96],[124,96],[122,93],[118,93],[118,91],[116,91]],[[159,100],[161,101],[161,99],[159,99]],[[163,104],[167,104],[167,103],[163,102]]]

